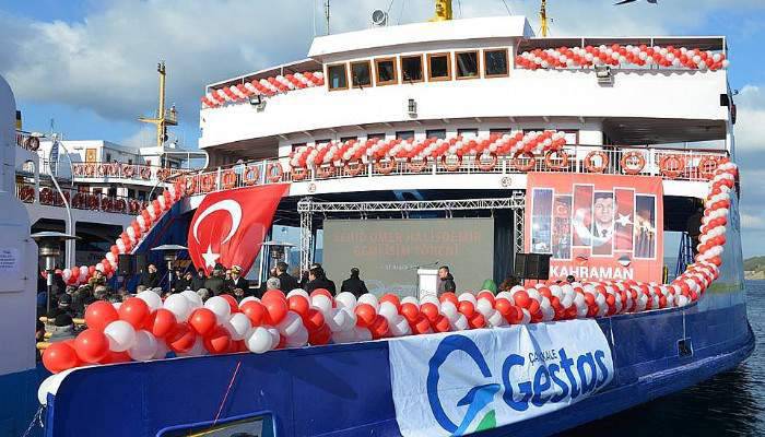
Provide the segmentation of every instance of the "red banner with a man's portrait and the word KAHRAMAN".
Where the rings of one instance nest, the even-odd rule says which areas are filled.
[[[551,253],[551,279],[661,281],[661,178],[530,173],[528,187],[525,249]]]

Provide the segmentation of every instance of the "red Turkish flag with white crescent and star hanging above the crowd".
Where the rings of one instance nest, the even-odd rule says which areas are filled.
[[[244,276],[260,252],[290,185],[278,184],[213,192],[204,197],[189,227],[189,256],[208,274],[216,263],[242,267]]]

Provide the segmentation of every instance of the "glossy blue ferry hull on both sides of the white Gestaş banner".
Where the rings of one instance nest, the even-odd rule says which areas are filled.
[[[482,435],[553,434],[734,367],[754,347],[745,305],[703,306],[729,304],[739,293],[707,295],[683,310],[599,320],[616,367],[605,389],[554,420]],[[679,356],[680,339],[691,339],[692,355]],[[216,416],[220,423],[252,415],[270,417],[266,435],[398,436],[390,387],[385,341],[101,366],[70,375],[50,397],[46,436],[154,436]]]

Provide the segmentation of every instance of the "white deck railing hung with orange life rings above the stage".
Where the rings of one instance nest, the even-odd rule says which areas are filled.
[[[331,179],[427,175],[517,175],[529,172],[660,176],[676,180],[708,180],[725,151],[567,145],[564,154],[519,156],[455,155],[440,160],[354,163],[320,168],[291,168],[286,158],[262,160],[186,175],[187,192],[207,193],[254,185]],[[603,157],[605,157],[603,160]]]

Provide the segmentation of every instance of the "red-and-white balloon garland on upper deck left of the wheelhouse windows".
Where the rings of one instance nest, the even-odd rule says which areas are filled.
[[[323,73],[320,71],[305,71],[285,75],[279,74],[260,80],[254,79],[251,82],[211,90],[201,97],[202,108],[215,108],[226,103],[242,102],[254,95],[271,97],[275,94],[287,93],[293,90],[321,86],[323,83]]]

